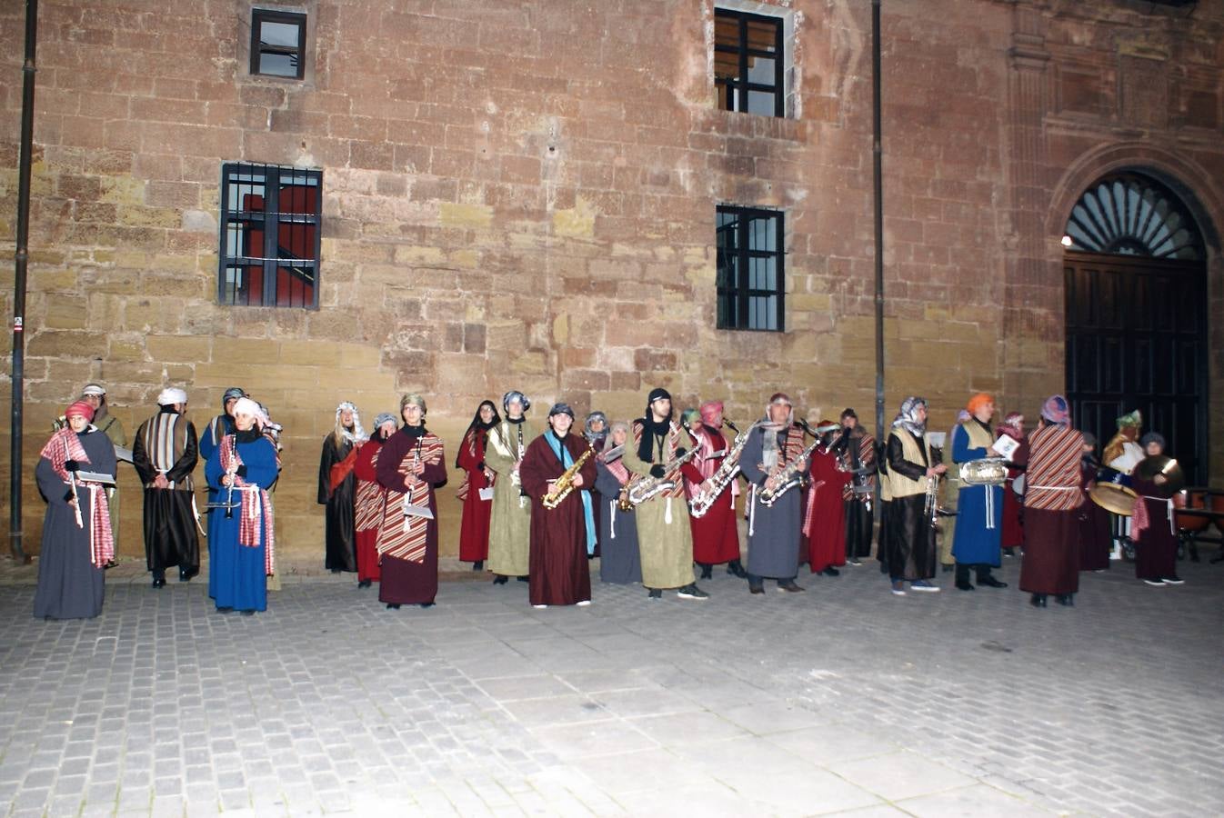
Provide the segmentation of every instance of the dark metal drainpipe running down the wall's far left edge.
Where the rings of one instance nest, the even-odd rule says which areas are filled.
[[[12,286],[12,418],[9,450],[9,537],[15,562],[29,562],[21,548],[21,438],[26,385],[26,268],[29,262],[29,166],[34,149],[34,50],[38,0],[26,0],[26,62],[21,67],[21,159],[17,163],[17,253]]]

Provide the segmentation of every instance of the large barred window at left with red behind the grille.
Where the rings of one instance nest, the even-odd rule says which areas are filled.
[[[322,203],[323,171],[223,165],[218,301],[318,307]]]

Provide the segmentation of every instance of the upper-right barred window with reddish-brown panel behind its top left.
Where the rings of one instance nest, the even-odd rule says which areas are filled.
[[[714,84],[718,108],[786,115],[782,20],[743,11],[714,12]]]

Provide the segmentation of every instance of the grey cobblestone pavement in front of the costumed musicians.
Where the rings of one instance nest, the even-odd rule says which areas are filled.
[[[0,813],[1219,816],[1224,565],[1181,570],[1048,610],[1013,560],[1004,591],[892,597],[871,562],[548,610],[447,582],[389,611],[346,575],[235,616],[132,581],[67,622],[9,582]]]

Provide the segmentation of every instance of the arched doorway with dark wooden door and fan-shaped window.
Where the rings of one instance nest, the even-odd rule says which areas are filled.
[[[1066,383],[1076,426],[1104,444],[1143,413],[1192,484],[1207,481],[1207,268],[1181,199],[1142,172],[1083,192],[1062,243]]]

